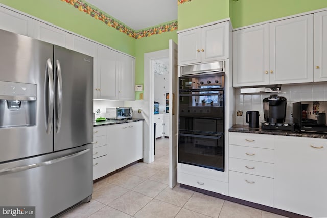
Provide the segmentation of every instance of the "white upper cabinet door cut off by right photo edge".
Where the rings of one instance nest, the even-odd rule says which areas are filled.
[[[314,14],[314,76],[327,81],[327,11]]]

